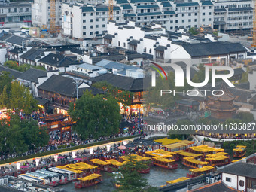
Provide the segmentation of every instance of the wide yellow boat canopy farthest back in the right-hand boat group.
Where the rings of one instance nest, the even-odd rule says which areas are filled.
[[[202,154],[203,157],[206,157],[208,154],[216,154],[220,152],[224,152],[223,148],[212,148],[208,145],[199,145],[199,146],[193,146],[188,148],[187,150],[190,153],[193,154]]]

